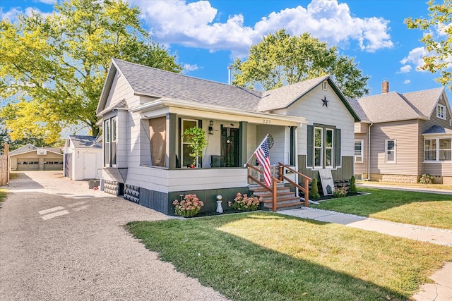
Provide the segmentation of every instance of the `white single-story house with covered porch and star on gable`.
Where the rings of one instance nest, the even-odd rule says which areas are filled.
[[[328,75],[259,92],[113,59],[97,116],[105,191],[165,214],[180,195],[194,193],[203,210],[215,210],[216,195],[227,204],[247,192],[244,164],[266,134],[273,166],[310,177],[328,168],[335,180],[353,175],[359,119]],[[187,168],[194,158],[182,135],[191,127],[208,140],[196,168]]]

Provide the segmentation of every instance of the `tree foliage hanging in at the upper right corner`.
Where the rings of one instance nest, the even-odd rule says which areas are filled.
[[[424,56],[424,65],[420,68],[431,73],[440,72],[441,77],[436,81],[452,90],[451,56],[452,56],[452,4],[451,0],[444,0],[443,4],[436,4],[435,0],[427,2],[429,18],[408,18],[405,20],[408,28],[424,30],[421,42],[429,52]],[[437,35],[434,32],[438,32]]]

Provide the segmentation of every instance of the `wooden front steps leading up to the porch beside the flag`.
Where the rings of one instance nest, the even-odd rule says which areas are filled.
[[[256,197],[263,198],[263,207],[266,209],[273,209],[273,195],[268,190],[263,189],[260,185],[251,184],[249,190],[253,192]],[[295,195],[295,192],[290,191],[289,187],[285,187],[283,183],[278,183],[278,199],[276,200],[276,209],[295,209],[304,206],[304,202]]]

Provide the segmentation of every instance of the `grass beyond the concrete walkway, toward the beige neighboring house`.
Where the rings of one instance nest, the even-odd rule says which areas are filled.
[[[452,230],[452,195],[359,188],[369,195],[328,199],[311,207]]]

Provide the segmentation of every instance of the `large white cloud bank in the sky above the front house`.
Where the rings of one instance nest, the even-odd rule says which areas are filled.
[[[264,16],[252,27],[244,25],[242,14],[229,16],[225,23],[216,22],[221,13],[209,1],[131,1],[141,6],[151,35],[167,44],[246,55],[249,47],[264,35],[285,28],[292,35],[310,32],[331,46],[348,47],[355,42],[369,52],[393,47],[388,20],[357,18],[347,4],[338,4],[336,0],[314,0],[307,8],[285,8]]]

